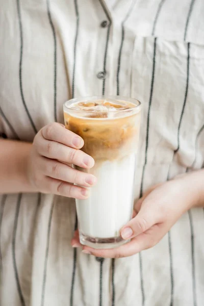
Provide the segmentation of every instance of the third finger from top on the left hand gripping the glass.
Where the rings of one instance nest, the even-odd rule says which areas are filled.
[[[73,169],[56,160],[43,158],[41,168],[44,175],[60,181],[83,187],[91,187],[96,183],[96,177],[94,175]]]

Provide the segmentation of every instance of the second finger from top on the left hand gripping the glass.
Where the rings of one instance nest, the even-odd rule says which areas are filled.
[[[92,168],[94,166],[94,159],[79,149],[73,149],[56,141],[46,140],[43,137],[38,138],[35,145],[38,153],[49,159],[60,160],[81,168]]]

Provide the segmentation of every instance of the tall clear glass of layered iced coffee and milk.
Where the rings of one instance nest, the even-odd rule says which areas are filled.
[[[120,229],[132,218],[141,104],[120,96],[71,99],[64,104],[68,130],[84,139],[95,165],[90,196],[76,200],[81,244],[113,248],[126,242]]]

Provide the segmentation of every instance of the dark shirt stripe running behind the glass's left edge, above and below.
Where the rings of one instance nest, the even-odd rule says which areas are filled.
[[[75,14],[77,18],[77,25],[76,25],[74,50],[73,50],[72,98],[74,97],[74,93],[75,93],[75,67],[76,67],[76,62],[77,62],[77,41],[78,41],[79,23],[80,23],[80,15],[79,15],[77,0],[74,0],[74,8],[75,8]],[[78,227],[78,219],[77,219],[77,212],[76,212],[74,231],[77,230],[77,227]],[[72,266],[71,289],[70,289],[70,306],[73,306],[73,293],[74,293],[76,268],[77,268],[77,248],[73,248],[73,266]]]

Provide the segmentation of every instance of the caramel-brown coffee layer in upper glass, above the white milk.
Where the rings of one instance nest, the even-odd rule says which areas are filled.
[[[66,128],[84,139],[84,152],[95,160],[114,160],[136,151],[140,113],[115,119],[106,119],[103,114],[94,114],[93,119],[92,115],[78,118],[64,113]]]

